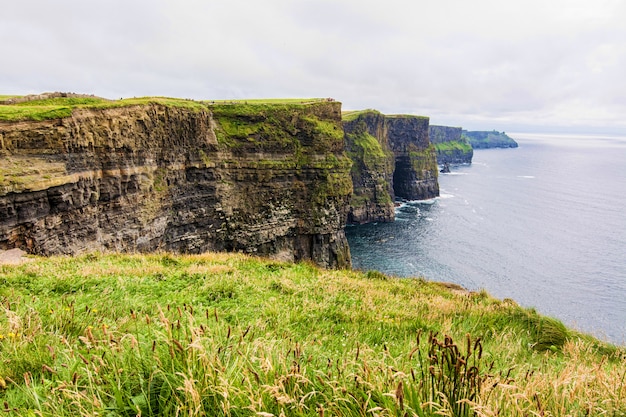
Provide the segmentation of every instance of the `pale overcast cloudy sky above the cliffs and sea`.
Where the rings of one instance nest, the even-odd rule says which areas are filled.
[[[626,136],[624,0],[20,0],[0,94],[332,97],[469,130]]]

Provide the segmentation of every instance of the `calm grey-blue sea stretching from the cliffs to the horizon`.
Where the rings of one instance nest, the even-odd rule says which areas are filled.
[[[353,267],[424,276],[626,345],[626,138],[509,134],[439,175],[441,196],[346,229]]]

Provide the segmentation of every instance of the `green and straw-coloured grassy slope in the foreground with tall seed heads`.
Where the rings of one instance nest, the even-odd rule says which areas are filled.
[[[421,279],[87,255],[0,266],[0,304],[7,416],[626,412],[623,350]]]

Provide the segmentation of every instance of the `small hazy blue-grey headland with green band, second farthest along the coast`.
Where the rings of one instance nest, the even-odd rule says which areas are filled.
[[[445,164],[471,164],[474,150],[460,127],[429,127],[430,141],[437,150],[437,162]]]

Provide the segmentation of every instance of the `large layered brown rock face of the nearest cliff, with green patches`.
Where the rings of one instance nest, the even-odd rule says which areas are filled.
[[[0,122],[0,249],[350,266],[341,104],[145,104]]]

